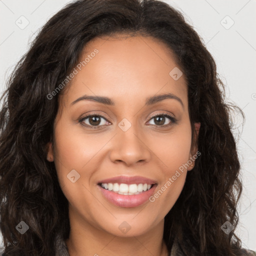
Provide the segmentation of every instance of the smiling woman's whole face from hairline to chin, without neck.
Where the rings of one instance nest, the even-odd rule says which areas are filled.
[[[193,167],[184,75],[151,37],[95,38],[83,60],[59,97],[48,150],[69,218],[118,236],[146,233],[163,223]],[[101,187],[105,179],[115,192]],[[154,185],[140,192],[144,184]]]

